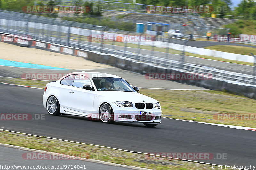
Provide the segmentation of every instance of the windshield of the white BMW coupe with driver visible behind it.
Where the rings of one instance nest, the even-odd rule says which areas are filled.
[[[135,89],[122,78],[94,77],[92,80],[98,91],[136,92]]]

